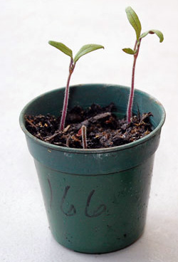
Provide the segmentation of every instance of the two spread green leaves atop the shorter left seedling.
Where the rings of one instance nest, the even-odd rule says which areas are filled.
[[[97,49],[104,48],[104,46],[90,43],[80,48],[78,53],[76,53],[75,57],[73,58],[73,51],[70,48],[68,48],[67,46],[65,46],[63,43],[59,43],[56,41],[48,41],[48,43],[51,46],[58,48],[58,50],[65,53],[67,56],[70,56],[70,58],[73,59],[74,63],[76,63],[81,56],[84,56],[85,54],[95,51]]]

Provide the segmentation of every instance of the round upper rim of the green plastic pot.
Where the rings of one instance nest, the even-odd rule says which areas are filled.
[[[88,83],[88,84],[71,85],[70,88],[76,88],[76,87],[80,87],[80,86],[83,86],[83,85],[85,85],[86,87],[89,87],[91,85],[95,85],[96,88],[101,87],[101,86],[105,86],[105,87],[117,86],[118,88],[125,88],[127,90],[130,90],[130,88],[125,86],[125,85],[104,84],[104,83],[103,84],[102,83],[99,83],[99,84],[98,83],[96,83],[96,84],[95,83],[91,83],[91,84]],[[140,93],[141,95],[146,95],[150,100],[154,100],[155,103],[157,103],[157,105],[159,105],[159,108],[161,108],[161,110],[162,110],[162,118],[159,122],[159,125],[157,125],[157,127],[154,130],[152,130],[152,132],[150,132],[149,135],[146,135],[145,137],[140,138],[140,140],[130,142],[129,144],[126,144],[126,145],[120,145],[120,146],[116,146],[116,147],[107,147],[107,148],[86,149],[86,150],[84,150],[82,148],[80,149],[80,148],[61,147],[61,146],[58,146],[58,145],[50,144],[48,142],[43,142],[42,140],[39,140],[37,137],[34,137],[33,135],[31,135],[31,133],[28,132],[28,130],[26,130],[26,126],[24,125],[24,115],[26,114],[26,108],[28,108],[28,106],[31,105],[31,103],[33,103],[35,100],[38,100],[38,98],[43,97],[43,95],[48,95],[48,93],[56,92],[56,90],[61,90],[61,89],[65,90],[65,87],[50,90],[46,93],[38,95],[36,98],[33,98],[33,100],[31,100],[23,108],[23,110],[21,110],[21,114],[20,114],[20,117],[19,117],[20,126],[21,126],[21,129],[23,130],[23,132],[25,133],[25,135],[28,138],[30,138],[31,140],[34,140],[36,143],[40,144],[41,146],[48,147],[48,150],[57,150],[57,151],[63,151],[63,152],[68,152],[68,153],[78,153],[78,154],[93,154],[93,153],[97,154],[97,153],[108,153],[108,152],[127,150],[131,147],[135,147],[137,145],[145,143],[147,140],[150,140],[152,137],[154,137],[156,135],[156,133],[158,132],[158,130],[161,129],[161,127],[162,127],[162,125],[164,124],[164,121],[165,121],[166,112],[165,112],[162,104],[159,103],[159,100],[154,98],[152,95],[135,88],[135,91],[137,93]]]

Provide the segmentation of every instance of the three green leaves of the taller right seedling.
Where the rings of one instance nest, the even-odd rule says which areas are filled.
[[[145,36],[147,36],[147,34],[149,33],[150,34],[155,33],[159,37],[159,42],[162,43],[162,41],[164,40],[164,36],[161,31],[152,29],[152,30],[149,30],[141,34],[142,26],[141,26],[140,20],[137,14],[135,13],[135,11],[130,6],[128,6],[125,9],[125,11],[127,14],[128,21],[130,22],[131,26],[135,30],[136,38],[137,38],[137,45],[140,43],[140,40],[144,38]],[[137,46],[135,46],[134,50],[132,48],[123,48],[122,51],[124,51],[125,53],[129,53],[130,55],[135,55],[135,53],[137,53]]]

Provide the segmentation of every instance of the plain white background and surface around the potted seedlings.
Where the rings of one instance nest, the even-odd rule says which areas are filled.
[[[155,96],[167,111],[157,150],[145,234],[132,246],[104,255],[69,251],[51,236],[33,159],[19,127],[19,114],[36,95],[66,85],[68,56],[48,45],[73,49],[100,43],[105,50],[80,58],[71,85],[130,85],[135,33],[125,7],[132,6],[143,31],[136,88]],[[1,177],[0,260],[3,262],[176,262],[178,261],[178,4],[177,0],[8,0],[0,6]]]

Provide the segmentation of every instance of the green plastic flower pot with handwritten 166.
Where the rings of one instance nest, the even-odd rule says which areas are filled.
[[[115,103],[126,112],[130,88],[88,84],[70,87],[69,108],[92,103]],[[32,100],[20,115],[38,172],[51,232],[63,246],[83,253],[117,251],[143,233],[150,194],[153,160],[165,112],[152,96],[135,90],[133,111],[152,112],[154,130],[136,142],[119,147],[82,150],[51,145],[33,137],[24,115],[58,115],[64,88]]]

